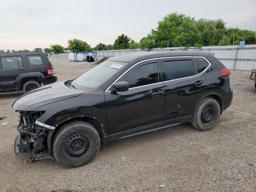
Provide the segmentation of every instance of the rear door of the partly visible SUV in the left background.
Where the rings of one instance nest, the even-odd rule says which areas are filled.
[[[16,88],[18,75],[26,73],[24,58],[20,56],[2,56],[0,58],[0,78],[2,89]]]

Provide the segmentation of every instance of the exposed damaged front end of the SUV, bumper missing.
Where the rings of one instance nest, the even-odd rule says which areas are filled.
[[[29,154],[29,162],[51,158],[46,138],[48,130],[54,127],[37,121],[43,114],[44,111],[19,111],[20,120],[17,130],[20,134],[14,142],[14,151],[15,154]]]

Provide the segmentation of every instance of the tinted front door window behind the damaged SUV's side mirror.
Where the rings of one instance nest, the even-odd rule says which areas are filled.
[[[136,68],[119,81],[126,81],[130,85],[129,87],[138,87],[142,85],[148,85],[158,82],[158,70],[157,62],[144,64],[139,68]]]

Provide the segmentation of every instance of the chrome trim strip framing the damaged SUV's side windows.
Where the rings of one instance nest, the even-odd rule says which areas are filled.
[[[124,76],[129,70],[131,70],[132,68],[134,68],[135,66],[137,66],[138,64],[141,64],[143,62],[147,62],[147,61],[151,61],[151,60],[157,60],[157,59],[172,59],[172,58],[203,58],[204,60],[206,60],[206,62],[208,62],[208,67],[205,68],[205,70],[203,70],[202,72],[193,75],[193,76],[188,76],[188,77],[183,77],[183,78],[178,78],[178,79],[173,79],[173,80],[168,80],[168,81],[162,81],[162,82],[158,82],[158,83],[153,83],[153,84],[148,84],[148,85],[142,85],[142,86],[138,86],[138,87],[132,87],[129,88],[130,89],[135,89],[135,88],[141,88],[141,87],[145,87],[145,86],[150,86],[150,85],[155,85],[155,84],[160,84],[160,83],[164,83],[164,82],[170,82],[170,81],[176,81],[176,80],[180,80],[180,79],[186,79],[186,78],[191,78],[191,77],[195,77],[198,76],[202,73],[204,73],[206,70],[208,70],[208,68],[211,66],[211,63],[203,56],[174,56],[174,57],[160,57],[160,58],[152,58],[152,59],[147,59],[147,60],[143,60],[140,61],[136,64],[134,64],[133,66],[131,66],[128,70],[126,70],[122,75],[120,75],[106,90],[105,92],[110,92],[110,89],[112,87],[113,84],[115,84],[120,78],[122,78],[122,76]]]

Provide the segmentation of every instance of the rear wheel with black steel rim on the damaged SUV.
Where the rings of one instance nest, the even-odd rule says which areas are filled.
[[[191,124],[201,131],[209,131],[216,126],[220,119],[220,105],[213,99],[202,99],[194,110]]]

